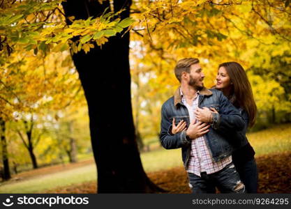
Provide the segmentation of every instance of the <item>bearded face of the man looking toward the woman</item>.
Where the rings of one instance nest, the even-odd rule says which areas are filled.
[[[203,88],[204,73],[199,63],[190,66],[190,74],[188,78],[188,85],[195,88],[197,91]]]

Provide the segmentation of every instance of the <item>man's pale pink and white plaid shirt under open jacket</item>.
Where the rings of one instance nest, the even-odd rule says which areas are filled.
[[[195,119],[194,111],[198,106],[199,91],[195,95],[193,104],[189,105],[181,92],[182,102],[187,107],[190,117],[190,123]],[[197,123],[197,121],[195,121]],[[206,172],[207,174],[216,173],[223,169],[227,164],[232,162],[232,156],[225,157],[223,160],[214,162],[211,157],[211,153],[207,148],[206,135],[197,137],[191,142],[191,153],[188,162],[188,173],[194,173],[197,176],[201,176],[200,173]]]

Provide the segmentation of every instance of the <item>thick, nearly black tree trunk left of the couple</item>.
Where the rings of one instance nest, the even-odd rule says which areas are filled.
[[[114,11],[125,8],[129,16],[131,1],[114,1]],[[66,17],[76,20],[101,15],[109,1],[63,2]],[[73,54],[75,67],[87,99],[91,144],[98,170],[98,193],[147,193],[158,187],[147,178],[135,141],[130,98],[129,33],[110,38],[102,49]]]

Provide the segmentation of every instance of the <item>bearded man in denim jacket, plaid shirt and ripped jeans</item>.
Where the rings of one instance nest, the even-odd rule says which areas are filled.
[[[174,72],[181,86],[162,106],[161,144],[181,148],[193,193],[215,193],[216,187],[222,193],[244,193],[226,137],[229,130],[241,130],[244,120],[221,91],[204,88],[198,59],[181,59]],[[186,128],[172,134],[173,121],[186,122]]]

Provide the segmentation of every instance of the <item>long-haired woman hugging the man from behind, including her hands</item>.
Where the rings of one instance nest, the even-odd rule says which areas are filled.
[[[251,84],[248,81],[244,68],[239,63],[228,62],[219,65],[216,77],[216,89],[234,104],[244,118],[246,125],[241,132],[234,132],[232,137],[235,144],[232,153],[232,161],[239,172],[239,176],[246,186],[248,193],[257,193],[258,190],[258,169],[255,163],[255,151],[246,138],[247,127],[255,124],[257,107],[253,99]],[[211,111],[216,111],[211,109]],[[196,118],[199,118],[196,116]],[[172,125],[172,134],[186,129],[186,123],[181,121],[177,126]]]

